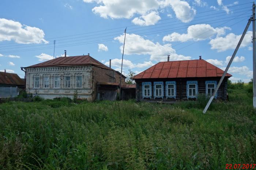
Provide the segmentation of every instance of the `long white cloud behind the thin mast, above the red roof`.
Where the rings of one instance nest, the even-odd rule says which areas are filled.
[[[126,34],[127,39],[125,40],[124,54],[132,55],[150,55],[151,61],[166,61],[167,54],[170,55],[170,60],[188,60],[191,59],[189,56],[178,55],[172,48],[171,44],[161,45],[160,43],[154,43],[151,40],[144,39],[140,35]],[[124,41],[124,35],[120,35],[114,38],[120,43]],[[120,46],[121,53],[123,52],[123,46]]]

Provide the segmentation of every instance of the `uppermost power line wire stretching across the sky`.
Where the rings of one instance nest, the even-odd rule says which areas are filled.
[[[232,6],[229,6],[229,8],[236,7],[236,6],[241,6],[241,5],[245,5],[245,4],[250,4],[250,3],[252,3],[252,2],[238,4],[238,5],[232,5]],[[220,9],[224,9],[224,8],[226,8],[226,7],[218,8],[218,9],[212,9],[212,10],[203,11],[203,12],[198,12],[198,13],[190,14],[190,15],[184,15],[184,16],[180,16],[180,18],[185,17],[185,16],[194,16],[196,14],[206,13],[206,12],[211,12],[211,11],[219,11]],[[171,19],[178,19],[178,18],[176,17],[176,18],[171,18]],[[159,21],[163,21],[163,20],[169,20],[169,18],[168,19],[162,19],[162,20],[159,20]],[[148,23],[152,23],[152,22],[148,22]],[[132,27],[132,26],[138,26],[138,25],[130,25],[128,27]],[[95,33],[95,32],[109,31],[109,30],[115,30],[115,29],[119,29],[119,28],[125,28],[125,27],[117,27],[117,28],[111,28],[111,29],[107,29],[107,30],[99,30],[99,31],[94,31],[94,32],[86,32],[86,33],[82,33],[82,34],[90,34],[90,33]],[[76,35],[82,35],[82,34],[75,34],[75,35],[68,35],[68,36],[76,36]],[[47,38],[47,39],[56,39],[56,38],[63,38],[63,37],[67,37],[67,36],[59,36],[59,37]],[[4,43],[4,44],[1,44],[1,45],[6,45],[6,44],[14,44],[14,43]]]

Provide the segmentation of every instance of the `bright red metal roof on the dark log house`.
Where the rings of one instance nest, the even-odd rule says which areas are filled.
[[[141,78],[184,78],[184,77],[221,77],[223,70],[203,59],[159,62],[137,74]],[[232,75],[227,73],[226,77]]]

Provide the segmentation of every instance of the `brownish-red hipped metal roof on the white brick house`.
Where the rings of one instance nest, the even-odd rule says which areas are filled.
[[[51,67],[51,66],[77,66],[77,65],[94,65],[103,69],[113,70],[110,67],[104,65],[98,60],[94,59],[90,55],[80,55],[72,57],[59,57],[49,61],[38,63],[28,67]],[[27,67],[26,67],[27,68]]]

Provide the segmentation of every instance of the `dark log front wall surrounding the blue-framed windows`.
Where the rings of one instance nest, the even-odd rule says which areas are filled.
[[[150,98],[144,98],[142,97],[142,81],[136,81],[136,101],[151,101],[151,102],[157,102],[157,101],[163,101],[166,103],[175,103],[177,100],[188,100],[187,98],[187,81],[193,81],[195,79],[177,79],[177,80],[154,80],[154,81],[163,81],[163,91],[164,91],[164,96],[163,98],[155,98],[154,99],[154,81],[150,82],[152,83],[152,96]],[[210,81],[210,80],[216,80],[213,78],[200,78],[197,79],[198,83],[198,92],[199,94],[205,94],[206,93],[206,84],[205,81]],[[165,82],[166,81],[176,81],[176,99],[174,98],[166,98],[166,86]],[[144,82],[149,82],[148,80],[144,80]],[[196,99],[196,98],[195,98]],[[194,100],[195,100],[194,99]],[[225,78],[218,89],[218,95],[217,99],[221,100],[226,100],[227,99],[227,78]],[[190,100],[190,99],[189,99]],[[191,99],[193,100],[193,99]]]

